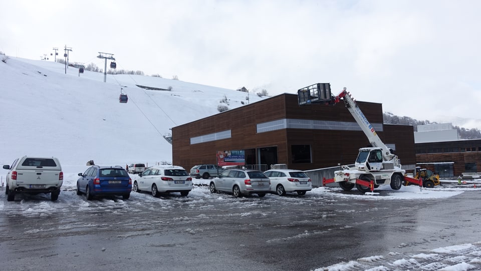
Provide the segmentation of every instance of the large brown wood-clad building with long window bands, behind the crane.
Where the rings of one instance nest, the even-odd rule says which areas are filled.
[[[383,124],[382,104],[357,102],[383,142],[415,164],[413,127]],[[298,96],[281,94],[172,128],[172,162],[190,169],[215,164],[217,151],[244,150],[246,165],[287,164],[310,170],[354,163],[367,137],[345,108],[299,106]],[[262,168],[261,169],[266,169]]]

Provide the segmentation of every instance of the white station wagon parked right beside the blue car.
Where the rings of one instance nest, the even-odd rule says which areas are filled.
[[[180,192],[185,197],[192,190],[192,178],[180,166],[152,166],[139,173],[133,189],[135,192],[150,191],[154,197],[172,192]]]

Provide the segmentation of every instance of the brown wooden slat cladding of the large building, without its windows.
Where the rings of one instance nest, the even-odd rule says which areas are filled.
[[[382,123],[382,105],[378,103],[357,102],[371,123]],[[309,119],[355,122],[344,103],[330,105],[299,106],[297,95],[283,94],[241,108],[229,110],[214,116],[172,128],[172,161],[190,169],[193,165],[216,163],[217,150],[252,149],[277,146],[278,163],[289,168],[308,170],[341,164],[354,163],[359,148],[366,147],[368,140],[362,131],[284,129],[256,133],[256,124],[278,119]],[[395,126],[395,125],[394,125]],[[231,130],[231,138],[190,145],[190,138]],[[384,126],[386,131],[386,126]],[[401,137],[411,133],[411,138]],[[384,132],[378,131],[381,139]],[[403,153],[414,157],[414,136],[412,126],[388,128],[386,143],[405,146]],[[412,140],[412,141],[410,141]],[[311,145],[313,163],[292,164],[291,145]],[[410,147],[409,147],[410,145]],[[412,160],[414,158],[403,159]]]

